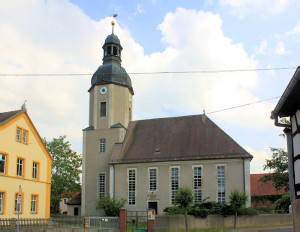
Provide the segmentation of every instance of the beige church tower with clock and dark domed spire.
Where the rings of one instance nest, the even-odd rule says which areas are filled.
[[[81,215],[99,215],[96,202],[114,194],[109,161],[116,143],[122,143],[132,118],[131,80],[121,66],[122,46],[114,34],[103,45],[103,64],[92,76],[89,127],[83,129]]]

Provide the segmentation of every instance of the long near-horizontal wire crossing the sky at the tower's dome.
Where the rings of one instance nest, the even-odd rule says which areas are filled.
[[[258,69],[224,69],[224,70],[198,70],[198,71],[165,71],[165,72],[131,72],[130,75],[152,75],[152,74],[194,74],[194,73],[203,73],[203,74],[213,74],[213,73],[232,73],[232,72],[259,72],[259,71],[278,71],[278,70],[287,70],[287,69],[297,69],[297,67],[280,67],[280,68],[258,68]],[[105,74],[105,73],[104,73]],[[106,73],[110,74],[110,73]],[[41,77],[41,76],[92,76],[92,73],[0,73],[2,77]]]

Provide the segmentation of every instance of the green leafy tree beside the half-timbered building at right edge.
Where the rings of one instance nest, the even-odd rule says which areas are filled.
[[[259,179],[260,182],[266,183],[272,181],[276,190],[284,188],[289,190],[289,174],[288,174],[288,155],[283,148],[270,148],[273,152],[272,159],[266,160],[264,170],[273,170],[273,173],[264,175]]]

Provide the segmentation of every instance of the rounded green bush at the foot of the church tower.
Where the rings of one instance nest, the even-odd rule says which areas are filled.
[[[120,210],[125,206],[126,199],[117,200],[105,195],[97,201],[96,208],[102,209],[106,216],[120,216]]]

